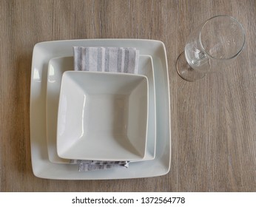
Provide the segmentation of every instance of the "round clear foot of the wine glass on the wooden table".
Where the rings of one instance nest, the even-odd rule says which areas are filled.
[[[189,66],[186,61],[184,52],[182,52],[181,55],[178,56],[178,59],[176,61],[176,69],[178,75],[180,75],[181,78],[190,82],[197,81],[205,76],[205,73],[198,72]]]

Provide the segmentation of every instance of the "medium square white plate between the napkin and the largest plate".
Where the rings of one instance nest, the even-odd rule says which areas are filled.
[[[52,163],[70,163],[57,155],[56,129],[58,100],[61,88],[61,77],[67,70],[73,69],[73,56],[52,58],[47,73],[47,148]],[[149,81],[149,117],[146,140],[146,156],[143,160],[155,158],[155,78],[150,55],[139,55],[138,74],[145,75]]]

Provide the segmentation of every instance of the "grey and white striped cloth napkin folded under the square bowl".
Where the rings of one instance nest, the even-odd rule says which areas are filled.
[[[73,47],[77,71],[138,73],[139,51],[133,47]],[[129,161],[70,160],[79,172],[128,168]]]

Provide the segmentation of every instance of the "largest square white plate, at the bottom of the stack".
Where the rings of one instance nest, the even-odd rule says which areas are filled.
[[[46,91],[47,67],[51,58],[72,56],[73,46],[136,47],[141,55],[151,55],[155,72],[156,152],[154,160],[130,163],[128,169],[78,172],[78,166],[51,163],[47,153]],[[169,76],[166,50],[161,41],[140,39],[87,39],[48,41],[33,50],[30,89],[30,143],[36,177],[58,180],[104,180],[155,177],[169,172],[171,160]]]

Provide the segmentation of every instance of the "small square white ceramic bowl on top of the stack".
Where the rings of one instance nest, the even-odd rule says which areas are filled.
[[[143,159],[148,93],[144,75],[64,72],[58,106],[58,156],[77,160]]]

